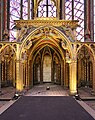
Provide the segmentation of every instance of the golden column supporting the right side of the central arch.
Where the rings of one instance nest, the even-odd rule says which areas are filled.
[[[70,94],[74,95],[77,93],[77,62],[71,61],[70,67]]]

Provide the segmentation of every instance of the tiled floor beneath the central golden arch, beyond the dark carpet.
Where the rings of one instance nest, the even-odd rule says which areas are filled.
[[[47,90],[49,89],[49,90]],[[68,96],[68,90],[59,85],[42,84],[34,86],[26,96]]]

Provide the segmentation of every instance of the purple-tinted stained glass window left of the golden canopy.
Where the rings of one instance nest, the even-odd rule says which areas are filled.
[[[21,0],[10,0],[10,41],[14,41],[16,38],[16,32],[13,30],[14,20],[19,20],[21,18],[21,14],[22,19],[28,19],[28,0],[22,0],[22,5]]]

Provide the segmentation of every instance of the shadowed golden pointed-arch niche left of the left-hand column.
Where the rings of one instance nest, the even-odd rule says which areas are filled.
[[[13,66],[14,64],[14,66]],[[1,85],[15,86],[16,83],[16,43],[0,43]]]

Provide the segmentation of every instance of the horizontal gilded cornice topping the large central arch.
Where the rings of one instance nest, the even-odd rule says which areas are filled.
[[[78,20],[57,20],[57,18],[38,18],[35,20],[15,20],[15,25],[18,28],[22,28],[24,26],[27,27],[39,27],[39,26],[68,26],[72,29],[78,27]]]

